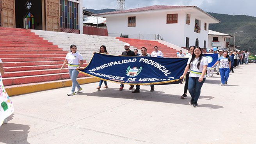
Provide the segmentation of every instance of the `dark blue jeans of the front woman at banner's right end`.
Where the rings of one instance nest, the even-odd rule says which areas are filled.
[[[188,91],[191,97],[194,98],[194,102],[197,102],[201,93],[201,88],[205,81],[205,78],[201,82],[198,82],[198,79],[199,77],[189,77],[188,79]]]

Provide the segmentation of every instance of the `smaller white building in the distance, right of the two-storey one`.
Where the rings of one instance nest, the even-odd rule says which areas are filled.
[[[218,49],[228,48],[230,38],[233,38],[233,36],[226,33],[220,33],[220,32],[215,32],[213,30],[209,30],[207,48],[209,49],[212,49],[213,47],[217,47]]]

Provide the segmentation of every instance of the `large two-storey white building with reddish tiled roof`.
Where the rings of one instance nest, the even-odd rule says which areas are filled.
[[[209,23],[220,23],[196,6],[154,5],[96,16],[107,18],[109,36],[155,39],[159,34],[165,41],[180,47],[208,46]]]

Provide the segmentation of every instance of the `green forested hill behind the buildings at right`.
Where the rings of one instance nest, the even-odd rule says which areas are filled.
[[[241,50],[247,50],[256,54],[256,17],[246,15],[228,15],[208,12],[208,14],[219,19],[221,23],[210,24],[209,30],[227,33],[234,36],[236,33],[236,46],[241,46]],[[230,39],[230,44],[234,44],[234,39]]]

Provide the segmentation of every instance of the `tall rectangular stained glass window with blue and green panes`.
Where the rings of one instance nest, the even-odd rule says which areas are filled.
[[[78,25],[78,3],[68,0],[60,0],[60,27],[79,29]]]

